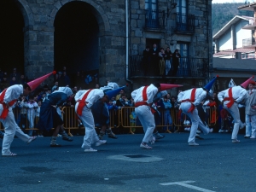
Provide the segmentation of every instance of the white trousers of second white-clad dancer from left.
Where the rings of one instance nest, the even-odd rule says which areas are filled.
[[[75,111],[77,111],[78,106],[79,102],[76,103]],[[94,119],[90,108],[84,107],[82,116],[79,114],[78,116],[82,120],[85,127],[84,143],[82,144],[81,148],[89,149],[93,143],[96,143],[100,140],[95,131]]]

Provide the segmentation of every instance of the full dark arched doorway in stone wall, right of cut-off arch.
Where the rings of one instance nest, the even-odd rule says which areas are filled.
[[[95,9],[84,2],[69,2],[55,15],[55,70],[96,74],[100,65],[99,26]]]

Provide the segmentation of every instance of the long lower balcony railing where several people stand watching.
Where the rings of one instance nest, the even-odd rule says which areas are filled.
[[[172,60],[171,60],[172,63]],[[143,68],[143,55],[131,55],[130,57],[130,69],[129,74],[131,78],[162,78],[162,76],[155,75],[152,71],[152,63],[148,64],[148,73],[144,74]],[[150,70],[151,69],[151,70]],[[179,61],[179,69],[177,71],[177,76],[173,77],[172,68],[167,75],[166,79],[173,78],[192,78],[192,79],[207,79],[209,78],[209,65],[206,58],[193,58],[193,57],[183,57]]]

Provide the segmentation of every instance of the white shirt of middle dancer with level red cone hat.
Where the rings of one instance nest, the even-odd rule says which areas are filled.
[[[131,92],[131,97],[134,99],[134,102],[147,102],[148,104],[153,102],[154,96],[157,94],[158,89],[157,87],[154,86],[154,84],[150,84],[147,88],[147,97],[148,100],[147,101],[143,101],[143,89],[145,86],[137,89],[137,90],[133,90]]]

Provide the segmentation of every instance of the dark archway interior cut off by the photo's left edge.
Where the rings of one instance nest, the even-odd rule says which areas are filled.
[[[0,3],[0,67],[8,74],[24,73],[24,19],[15,1]]]

